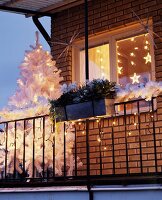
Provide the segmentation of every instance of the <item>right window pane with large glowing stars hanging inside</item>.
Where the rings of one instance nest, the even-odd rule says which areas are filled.
[[[146,83],[151,79],[150,38],[148,34],[117,41],[118,83]]]

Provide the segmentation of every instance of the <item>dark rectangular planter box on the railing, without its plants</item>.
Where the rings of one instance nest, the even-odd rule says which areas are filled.
[[[65,107],[56,107],[57,121],[77,120],[102,115],[112,115],[114,99],[97,99]]]

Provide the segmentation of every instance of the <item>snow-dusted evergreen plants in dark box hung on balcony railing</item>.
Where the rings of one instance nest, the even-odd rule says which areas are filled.
[[[50,100],[50,114],[59,121],[77,120],[113,112],[116,84],[106,79],[94,79],[82,86],[63,84],[63,94]]]

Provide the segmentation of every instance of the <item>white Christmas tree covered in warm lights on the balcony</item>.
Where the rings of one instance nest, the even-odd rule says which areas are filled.
[[[25,117],[34,117],[38,115],[48,114],[49,105],[48,99],[56,99],[61,95],[62,77],[60,70],[56,68],[56,63],[48,51],[44,51],[39,44],[38,32],[36,32],[36,44],[30,46],[32,50],[26,51],[24,61],[20,66],[20,78],[17,80],[18,89],[15,94],[9,99],[9,106],[0,112],[1,119],[13,120]],[[32,176],[33,171],[33,139],[35,141],[35,169],[42,173],[43,162],[43,142],[44,142],[44,169],[53,168],[53,138],[55,139],[55,174],[62,175],[64,165],[64,126],[62,123],[57,123],[55,132],[51,132],[51,120],[46,117],[45,123],[45,138],[43,141],[42,118],[35,120],[35,138],[33,135],[33,122],[26,120],[25,129],[25,168]],[[15,128],[14,123],[9,123],[8,126],[8,147],[7,147],[7,172],[14,171],[14,155],[15,155]],[[72,125],[68,124],[66,131],[66,165],[68,168],[67,174],[72,175],[74,168],[74,156],[72,148],[74,144],[74,132]],[[68,134],[67,134],[68,133]],[[16,138],[16,170],[21,174],[23,170],[19,167],[22,164],[23,158],[23,121],[17,123],[17,138]],[[5,131],[0,134],[0,171],[4,170],[5,156]],[[50,138],[50,139],[49,139]],[[52,139],[51,139],[52,138]],[[3,141],[3,142],[1,142]],[[79,165],[81,163],[78,163]]]

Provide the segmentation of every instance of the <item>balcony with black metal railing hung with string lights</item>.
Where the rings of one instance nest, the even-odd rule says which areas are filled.
[[[1,122],[1,187],[161,183],[162,97],[114,108],[60,132],[49,116]]]

